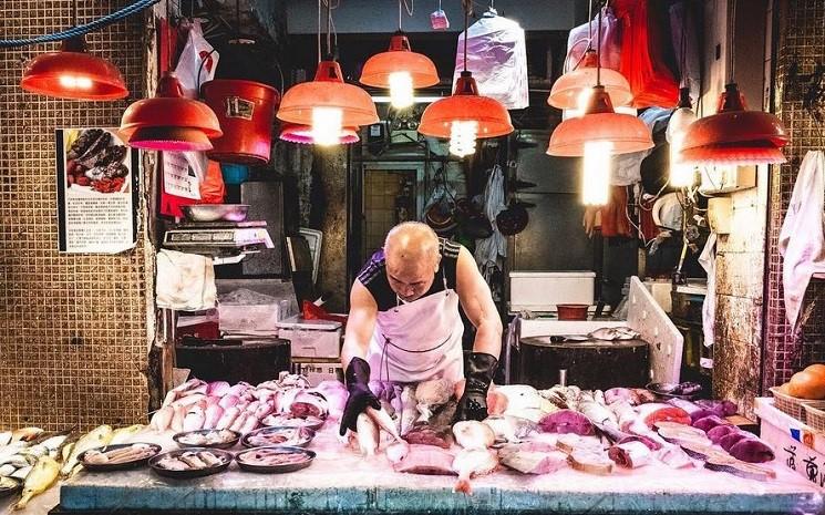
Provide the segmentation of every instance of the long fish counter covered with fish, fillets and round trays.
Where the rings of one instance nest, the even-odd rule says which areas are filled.
[[[52,513],[825,508],[819,488],[726,421],[735,409],[729,403],[679,399],[689,394],[666,400],[644,389],[517,384],[491,392],[493,414],[484,422],[452,424],[454,388],[443,380],[408,385],[364,414],[357,434],[341,437],[344,396],[336,381],[311,387],[286,374],[257,387],[190,380],[172,391],[149,426],[101,426],[69,449],[43,443],[48,452],[60,447],[47,459],[60,463],[64,476]],[[29,474],[27,491],[48,488],[58,478],[54,465],[51,472],[38,485]],[[55,491],[34,497],[37,506]]]

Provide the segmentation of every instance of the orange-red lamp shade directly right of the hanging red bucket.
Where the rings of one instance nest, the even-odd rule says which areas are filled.
[[[343,82],[341,66],[334,61],[318,63],[316,79],[296,84],[283,94],[278,119],[298,125],[312,125],[314,107],[342,111],[344,127],[371,125],[379,121],[375,104],[361,87]]]

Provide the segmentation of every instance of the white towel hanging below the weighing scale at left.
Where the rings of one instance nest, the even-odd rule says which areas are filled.
[[[217,290],[212,259],[197,254],[157,253],[157,307],[203,311],[215,307]]]

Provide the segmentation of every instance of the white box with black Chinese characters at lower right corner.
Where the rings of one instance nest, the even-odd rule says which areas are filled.
[[[773,447],[784,467],[825,490],[825,435],[781,412],[773,399],[756,399],[760,437]]]

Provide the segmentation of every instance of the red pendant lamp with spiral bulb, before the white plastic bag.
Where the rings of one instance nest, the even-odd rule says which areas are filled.
[[[464,10],[467,31],[468,7]],[[507,109],[495,99],[478,94],[478,85],[467,71],[467,38],[464,38],[464,71],[452,96],[427,105],[421,115],[419,133],[450,138],[450,153],[464,157],[475,153],[477,138],[497,137],[514,131]]]

